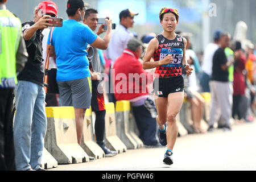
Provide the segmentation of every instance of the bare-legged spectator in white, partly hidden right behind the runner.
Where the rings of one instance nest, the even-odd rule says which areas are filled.
[[[191,49],[191,36],[192,34],[182,32],[180,34],[187,39],[186,46],[186,59],[191,68],[195,69],[195,63],[199,63],[196,53]],[[195,69],[196,70],[196,69]],[[191,119],[193,121],[193,129],[195,133],[205,133],[201,127],[201,121],[204,114],[204,98],[199,93],[199,86],[197,85],[196,72],[192,72],[191,75],[184,76],[185,82],[185,97],[191,104]]]

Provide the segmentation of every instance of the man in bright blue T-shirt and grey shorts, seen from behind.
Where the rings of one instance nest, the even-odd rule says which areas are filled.
[[[60,106],[75,108],[77,142],[80,144],[85,111],[90,107],[92,97],[86,47],[87,44],[100,49],[108,47],[112,20],[106,19],[108,30],[101,39],[88,26],[80,23],[85,15],[82,0],[68,0],[67,14],[63,27],[53,30],[50,55],[55,56],[56,53]]]

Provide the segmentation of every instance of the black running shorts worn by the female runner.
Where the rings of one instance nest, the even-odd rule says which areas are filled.
[[[170,93],[183,92],[184,79],[182,76],[172,78],[155,78],[154,92],[158,97],[168,97]]]

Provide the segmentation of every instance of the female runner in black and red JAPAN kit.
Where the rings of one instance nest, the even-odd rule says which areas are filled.
[[[173,148],[178,135],[176,116],[179,114],[184,100],[183,71],[189,76],[192,68],[185,59],[187,40],[175,33],[179,22],[177,9],[164,7],[159,13],[163,33],[156,35],[148,45],[143,59],[143,69],[156,68],[154,92],[159,126],[159,142],[167,145],[163,162],[173,164]],[[150,62],[151,57],[154,62]],[[184,68],[184,69],[183,69]],[[166,127],[168,123],[168,127]]]

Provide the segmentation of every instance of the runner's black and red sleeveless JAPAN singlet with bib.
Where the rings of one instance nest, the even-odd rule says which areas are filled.
[[[174,60],[172,64],[156,67],[155,77],[168,78],[181,76],[181,64],[184,49],[183,38],[180,35],[177,35],[174,40],[168,40],[162,34],[159,34],[156,35],[156,39],[158,39],[159,47],[154,52],[154,60],[163,60],[167,55],[171,55]]]

